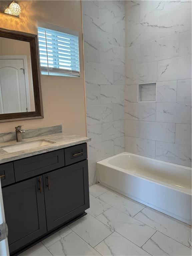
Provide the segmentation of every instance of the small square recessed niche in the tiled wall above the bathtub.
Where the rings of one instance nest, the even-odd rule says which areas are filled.
[[[138,102],[156,102],[156,83],[138,84]]]

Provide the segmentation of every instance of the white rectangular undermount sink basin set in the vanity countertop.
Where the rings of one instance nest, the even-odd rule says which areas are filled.
[[[39,148],[39,147],[50,145],[53,143],[55,142],[42,139],[42,140],[34,140],[29,142],[21,142],[19,144],[12,144],[12,145],[4,146],[1,148],[9,153],[13,153],[21,150],[26,150],[26,149]]]

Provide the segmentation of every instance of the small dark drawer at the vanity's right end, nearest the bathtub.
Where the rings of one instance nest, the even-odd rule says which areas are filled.
[[[65,148],[65,165],[87,159],[87,143]]]

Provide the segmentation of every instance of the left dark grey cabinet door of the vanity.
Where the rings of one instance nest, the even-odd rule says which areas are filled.
[[[11,253],[47,232],[43,176],[3,188],[2,193]]]

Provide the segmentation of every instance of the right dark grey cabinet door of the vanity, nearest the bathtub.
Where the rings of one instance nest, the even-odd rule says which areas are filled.
[[[89,208],[87,160],[43,176],[48,231]]]

